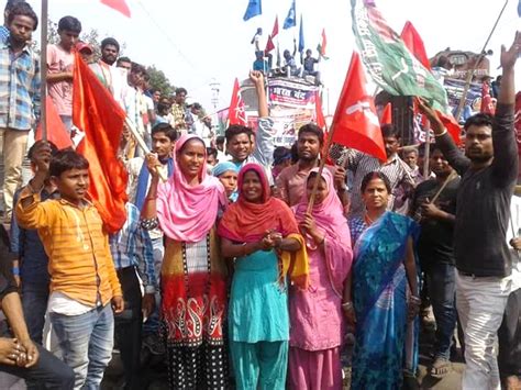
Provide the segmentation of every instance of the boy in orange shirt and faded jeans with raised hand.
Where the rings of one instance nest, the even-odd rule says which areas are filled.
[[[101,218],[86,199],[89,163],[74,151],[51,159],[47,143],[34,155],[36,174],[20,193],[16,219],[38,231],[48,255],[49,319],[75,388],[99,388],[112,357],[112,310],[121,313],[124,303]],[[41,201],[47,176],[59,200]]]

